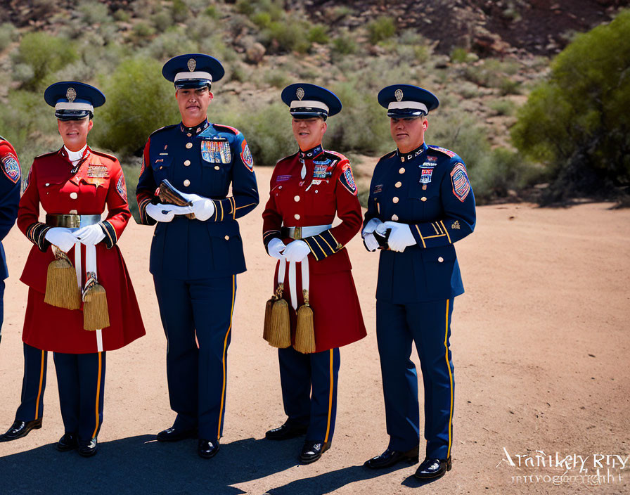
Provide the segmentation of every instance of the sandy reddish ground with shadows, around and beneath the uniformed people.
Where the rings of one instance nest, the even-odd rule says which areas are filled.
[[[456,298],[451,327],[453,470],[420,486],[412,476],[415,466],[384,472],[362,467],[385,449],[387,435],[375,339],[377,255],[366,252],[358,237],[348,249],[368,337],[341,351],[333,447],[320,461],[302,466],[297,464],[301,439],[264,439],[265,430],[285,418],[276,351],[261,338],[274,266],[260,241],[270,174],[271,169],[257,170],[262,205],[240,220],[248,271],[238,276],[219,454],[206,461],[195,454],[193,440],[155,442],[174,413],[167,394],[166,342],[148,273],[153,228],[132,223],[120,248],[148,335],[108,353],[100,451],[84,459],[54,449],[63,425],[50,356],[43,428],[0,443],[0,494],[630,491],[629,210],[605,204],[478,208],[477,230],[457,244],[466,293]],[[18,278],[30,243],[14,228],[4,246],[11,277],[0,345],[3,431],[20,399],[27,290]],[[413,359],[417,362],[415,353]],[[577,456],[586,471],[580,473]],[[592,477],[598,468],[603,476]]]

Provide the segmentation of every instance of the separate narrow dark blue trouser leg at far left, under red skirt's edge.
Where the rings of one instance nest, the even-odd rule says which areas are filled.
[[[32,421],[44,415],[44,390],[46,390],[46,365],[48,352],[24,344],[24,377],[22,398],[15,413],[16,421]]]

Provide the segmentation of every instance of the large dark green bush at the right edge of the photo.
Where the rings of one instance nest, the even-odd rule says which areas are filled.
[[[518,111],[513,143],[543,162],[550,200],[630,185],[630,11],[580,34]]]

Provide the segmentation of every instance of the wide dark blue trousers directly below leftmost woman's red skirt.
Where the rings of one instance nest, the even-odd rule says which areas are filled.
[[[53,352],[53,359],[63,429],[75,433],[79,441],[96,438],[103,423],[105,352]]]

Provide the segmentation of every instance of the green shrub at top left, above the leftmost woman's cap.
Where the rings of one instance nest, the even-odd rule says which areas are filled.
[[[77,60],[74,44],[44,32],[30,32],[20,41],[17,62],[30,66],[32,78],[23,81],[25,89],[39,91],[46,85],[44,78]]]

